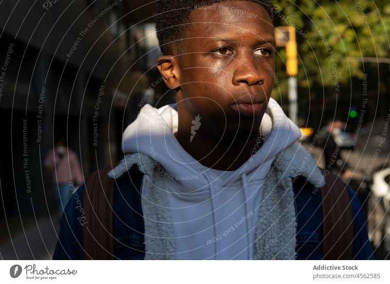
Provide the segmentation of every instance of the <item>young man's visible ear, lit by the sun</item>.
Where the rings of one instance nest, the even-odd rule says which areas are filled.
[[[180,67],[174,56],[160,56],[157,59],[157,68],[168,88],[176,89],[180,86]]]

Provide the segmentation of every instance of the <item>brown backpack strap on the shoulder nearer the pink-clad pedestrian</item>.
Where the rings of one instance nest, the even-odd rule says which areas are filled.
[[[92,173],[85,183],[83,210],[86,223],[82,227],[84,259],[114,259],[113,203],[114,182],[107,174],[112,166]]]

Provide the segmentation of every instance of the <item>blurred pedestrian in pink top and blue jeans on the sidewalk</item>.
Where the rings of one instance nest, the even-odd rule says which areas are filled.
[[[83,183],[80,163],[76,153],[60,138],[56,146],[49,150],[44,166],[53,174],[53,188],[59,203],[59,213],[62,215],[71,196],[72,186]]]

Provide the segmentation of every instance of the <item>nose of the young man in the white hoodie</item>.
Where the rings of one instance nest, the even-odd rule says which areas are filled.
[[[236,68],[233,74],[233,84],[238,86],[240,84],[247,84],[248,86],[262,84],[264,82],[264,76],[254,63],[252,56],[246,55],[237,58]]]

